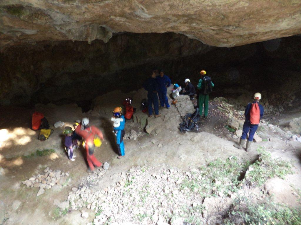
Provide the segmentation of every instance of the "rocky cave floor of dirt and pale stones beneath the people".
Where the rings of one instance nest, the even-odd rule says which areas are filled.
[[[127,96],[134,99],[137,112],[126,122],[126,156],[119,160],[110,116]],[[181,133],[181,116],[191,113],[196,101],[181,96],[169,110],[160,109],[162,116],[155,119],[139,110],[145,96],[143,90],[113,91],[96,98],[93,110],[87,113],[76,104],[4,107],[0,118],[0,224],[224,224],[225,219],[240,224],[246,220],[229,212],[235,212],[241,199],[250,205],[272,202],[299,209],[301,142],[292,138],[301,132],[298,95],[285,107],[263,102],[266,114],[250,152],[233,147],[243,123],[243,106],[235,102],[250,99],[211,99],[209,117],[200,119],[199,132]],[[105,138],[95,155],[108,162],[109,168],[87,174],[82,148],[75,150],[74,162],[68,160],[64,127],[53,128],[50,138],[40,142],[38,131],[30,129],[35,110],[44,113],[51,126],[57,121],[72,126],[75,119],[89,117]],[[34,155],[45,149],[54,151]],[[263,153],[259,156],[257,149],[270,153],[270,158],[261,157]],[[278,158],[284,160],[279,167],[268,168]],[[291,173],[286,173],[290,165]],[[272,173],[272,178],[255,179],[254,171],[262,175],[279,168],[281,173]],[[40,188],[45,181],[49,189]],[[262,213],[259,219],[269,221],[269,214]]]

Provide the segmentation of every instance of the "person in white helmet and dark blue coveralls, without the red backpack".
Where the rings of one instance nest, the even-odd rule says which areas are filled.
[[[260,99],[261,99],[261,94],[256,93],[254,95],[254,100],[255,101],[253,101],[253,104],[255,104],[255,103],[258,104],[259,110],[260,110],[260,119],[261,119],[262,116],[263,116],[263,113],[264,113],[264,109],[263,109],[263,106],[261,104],[259,104]],[[251,146],[251,143],[253,141],[254,134],[255,134],[255,132],[258,128],[258,124],[251,124],[251,122],[250,122],[251,107],[252,107],[252,103],[249,103],[246,107],[246,110],[245,110],[245,113],[244,113],[245,122],[244,122],[244,126],[243,126],[243,134],[240,137],[239,144],[234,145],[234,147],[236,147],[238,149],[242,149],[242,146],[244,145],[245,140],[247,138],[247,134],[249,133],[249,137],[248,137],[248,140],[247,140],[247,148],[246,148],[247,152],[250,151],[250,146]]]

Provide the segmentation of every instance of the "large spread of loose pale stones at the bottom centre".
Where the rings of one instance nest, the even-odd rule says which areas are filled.
[[[88,180],[98,183],[103,172],[98,170]],[[191,190],[191,184],[185,184],[195,176],[201,179],[201,171],[182,171],[160,165],[160,169],[132,168],[119,176],[115,187],[96,191],[88,185],[72,188],[68,196],[71,208],[86,207],[94,211],[95,225],[124,222],[164,225],[175,224],[181,218],[182,222],[190,218],[195,223],[206,224],[208,213],[203,195],[197,187]]]

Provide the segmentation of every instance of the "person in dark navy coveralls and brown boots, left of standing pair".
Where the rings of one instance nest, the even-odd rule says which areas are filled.
[[[143,88],[147,91],[149,117],[153,116],[153,104],[155,110],[155,117],[157,118],[161,116],[161,114],[159,114],[159,101],[157,95],[159,87],[156,81],[156,73],[154,71],[151,74],[151,77],[143,83]]]

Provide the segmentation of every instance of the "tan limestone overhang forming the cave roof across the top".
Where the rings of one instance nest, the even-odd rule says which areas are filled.
[[[175,32],[230,47],[301,33],[300,8],[298,0],[5,0],[0,45]]]

